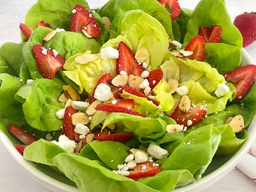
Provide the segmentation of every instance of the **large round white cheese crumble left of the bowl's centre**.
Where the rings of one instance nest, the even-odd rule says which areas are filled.
[[[100,101],[108,101],[113,98],[113,93],[108,85],[101,83],[96,87],[94,97]]]

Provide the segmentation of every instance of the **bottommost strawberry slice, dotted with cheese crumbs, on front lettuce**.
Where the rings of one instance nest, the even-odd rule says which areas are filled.
[[[142,169],[143,166],[146,166],[146,169]],[[129,171],[129,175],[126,177],[129,177],[131,179],[140,179],[142,177],[152,177],[155,176],[156,173],[161,171],[161,167],[154,163],[154,162],[145,162],[137,164],[136,167]]]

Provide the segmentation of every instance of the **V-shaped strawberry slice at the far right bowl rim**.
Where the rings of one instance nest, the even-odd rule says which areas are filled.
[[[241,100],[244,98],[246,93],[249,91],[252,86],[255,77],[256,77],[256,66],[255,65],[245,65],[239,68],[236,68],[232,71],[229,71],[223,74],[226,81],[232,81],[236,84],[236,100]]]

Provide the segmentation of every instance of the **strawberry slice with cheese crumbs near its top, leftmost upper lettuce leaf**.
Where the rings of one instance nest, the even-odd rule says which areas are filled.
[[[46,50],[46,55],[43,54]],[[37,65],[45,78],[52,79],[56,73],[63,68],[65,59],[60,55],[54,56],[51,49],[48,49],[40,44],[33,46],[33,51],[36,57]]]

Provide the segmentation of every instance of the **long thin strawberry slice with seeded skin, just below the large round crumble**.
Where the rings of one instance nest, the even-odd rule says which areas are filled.
[[[127,113],[130,115],[136,115],[141,117],[146,117],[146,115],[143,115],[139,112],[133,111],[129,108],[122,107],[120,105],[113,105],[112,103],[102,103],[98,104],[95,108],[98,111],[108,111],[108,112],[115,112],[115,113]]]

